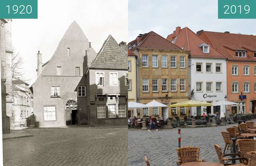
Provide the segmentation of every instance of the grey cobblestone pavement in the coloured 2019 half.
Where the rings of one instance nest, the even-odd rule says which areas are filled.
[[[233,125],[204,128],[182,128],[181,146],[199,146],[200,159],[218,162],[214,148],[218,144],[224,150],[221,131]],[[156,139],[159,138],[159,139]],[[160,131],[128,130],[128,166],[145,166],[148,156],[150,166],[177,166],[178,129]]]

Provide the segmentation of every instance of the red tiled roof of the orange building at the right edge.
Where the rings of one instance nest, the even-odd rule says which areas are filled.
[[[200,31],[199,34],[202,38],[207,39],[211,44],[225,55],[229,60],[238,61],[256,61],[254,55],[248,55],[245,58],[235,57],[231,54],[230,50],[249,50],[256,51],[256,36],[255,35],[242,35],[235,33],[220,33],[211,31]]]

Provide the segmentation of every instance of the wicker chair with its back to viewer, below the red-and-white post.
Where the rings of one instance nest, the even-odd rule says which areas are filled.
[[[201,162],[203,160],[199,159],[199,147],[194,146],[184,146],[182,148],[177,148],[178,161],[177,165],[180,166],[186,162]]]

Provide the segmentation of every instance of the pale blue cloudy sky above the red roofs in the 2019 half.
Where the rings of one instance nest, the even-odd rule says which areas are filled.
[[[166,38],[177,26],[256,35],[254,19],[218,19],[217,0],[128,0],[128,18],[129,41],[149,31]]]

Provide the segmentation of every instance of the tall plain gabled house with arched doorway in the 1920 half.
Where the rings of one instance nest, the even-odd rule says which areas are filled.
[[[86,117],[83,73],[96,57],[90,42],[74,21],[62,37],[50,61],[42,64],[38,51],[38,78],[31,87],[38,127],[58,127],[83,123]]]

